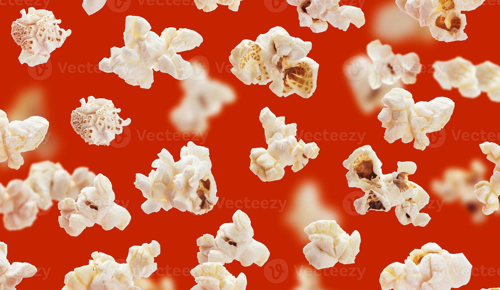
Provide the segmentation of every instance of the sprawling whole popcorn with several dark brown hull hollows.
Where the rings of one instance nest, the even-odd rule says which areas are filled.
[[[414,174],[414,162],[397,162],[397,171],[382,174],[382,162],[371,146],[359,147],[344,160],[342,165],[348,170],[349,187],[360,188],[364,196],[354,201],[360,215],[370,210],[388,212],[395,207],[397,220],[402,225],[424,227],[430,221],[428,214],[420,210],[429,203],[429,195],[416,183],[408,180]]]

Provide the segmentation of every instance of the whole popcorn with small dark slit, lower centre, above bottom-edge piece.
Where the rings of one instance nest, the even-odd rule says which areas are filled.
[[[205,234],[196,240],[199,247],[198,263],[231,263],[239,261],[243,267],[259,267],[269,259],[269,250],[253,239],[250,218],[240,210],[232,216],[232,223],[220,226],[215,238]]]

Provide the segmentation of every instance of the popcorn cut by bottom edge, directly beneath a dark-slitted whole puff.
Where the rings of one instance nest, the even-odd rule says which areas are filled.
[[[203,263],[191,270],[196,286],[191,290],[245,290],[246,276],[234,277],[222,263]]]

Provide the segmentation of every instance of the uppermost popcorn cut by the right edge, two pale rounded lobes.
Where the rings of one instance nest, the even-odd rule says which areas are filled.
[[[490,61],[478,65],[455,57],[448,61],[436,61],[432,65],[434,78],[445,90],[457,88],[467,98],[476,98],[486,92],[493,102],[500,102],[500,66]]]

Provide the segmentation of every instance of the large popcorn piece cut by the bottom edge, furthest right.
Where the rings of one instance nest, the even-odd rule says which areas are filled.
[[[460,254],[450,254],[435,243],[413,250],[403,263],[392,263],[380,274],[382,290],[450,290],[466,285],[472,265]]]

